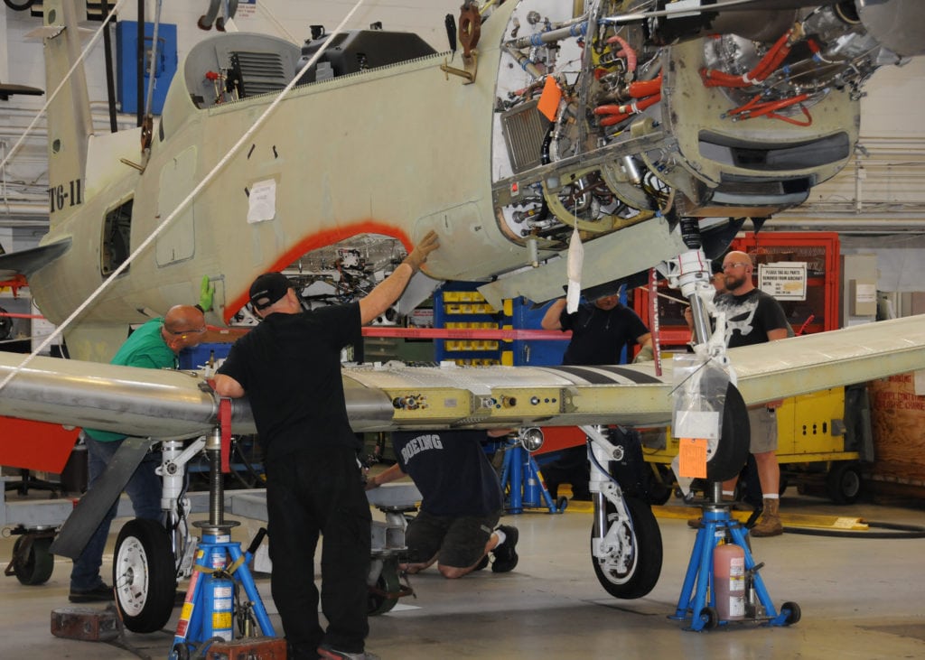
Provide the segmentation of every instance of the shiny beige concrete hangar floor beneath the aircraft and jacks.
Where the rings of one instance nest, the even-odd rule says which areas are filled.
[[[41,496],[41,495],[36,495]],[[10,498],[8,501],[12,501]],[[756,561],[775,606],[796,602],[802,617],[789,627],[730,624],[706,632],[672,620],[696,532],[685,524],[697,509],[671,500],[657,508],[664,544],[659,583],[645,598],[619,601],[598,584],[590,563],[591,514],[578,503],[561,515],[531,511],[505,516],[520,530],[520,563],[511,573],[483,570],[447,581],[433,569],[413,576],[416,597],[370,618],[367,649],[386,660],[439,658],[919,658],[925,657],[925,539],[843,539],[784,533],[753,539]],[[672,506],[673,505],[673,506]],[[582,510],[583,509],[583,510]],[[836,507],[829,500],[784,495],[784,525],[805,514],[856,517],[878,523],[925,525],[920,502]],[[688,515],[690,514],[690,516]],[[233,517],[231,517],[233,518]],[[104,558],[124,519],[113,525]],[[258,522],[242,520],[245,543]],[[16,537],[0,539],[8,561]],[[56,558],[49,581],[24,586],[0,580],[4,658],[163,658],[169,652],[175,609],[165,631],[127,632],[128,648],[54,637],[52,610],[68,603],[70,561]],[[271,620],[280,629],[269,580],[258,577]],[[102,605],[93,605],[102,608]]]

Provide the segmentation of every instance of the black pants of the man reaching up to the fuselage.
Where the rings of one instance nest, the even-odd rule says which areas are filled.
[[[313,446],[266,462],[266,510],[273,601],[293,658],[314,658],[322,642],[362,653],[369,573],[369,503],[356,452]],[[314,549],[322,536],[318,623]]]

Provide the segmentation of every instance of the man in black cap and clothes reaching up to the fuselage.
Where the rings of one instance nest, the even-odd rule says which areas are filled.
[[[253,281],[263,323],[242,336],[216,373],[216,392],[251,403],[264,448],[273,601],[289,657],[372,657],[364,653],[371,516],[344,403],[340,350],[362,340],[361,325],[385,312],[438,248],[428,233],[364,298],[302,310],[280,273]],[[317,617],[314,547],[322,537],[322,610]]]

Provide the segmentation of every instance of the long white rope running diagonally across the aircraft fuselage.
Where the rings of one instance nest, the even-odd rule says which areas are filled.
[[[119,3],[121,2],[122,0],[119,0]],[[344,27],[353,17],[353,14],[355,14],[356,11],[361,6],[364,5],[364,2],[365,0],[358,0],[356,5],[353,6],[353,8],[350,10],[347,16],[344,17],[344,19],[340,21],[340,24],[338,25],[338,27],[333,32],[330,33],[330,36],[328,37],[327,42],[324,43],[323,46],[318,49],[318,51],[312,56],[311,59],[308,60],[308,62],[305,63],[305,66],[302,67],[299,73],[296,74],[296,76],[290,80],[290,83],[286,85],[286,87],[282,90],[282,92],[279,92],[277,94],[277,98],[274,99],[273,103],[270,104],[269,107],[266,108],[263,115],[257,117],[257,120],[253,122],[253,126],[250,129],[248,129],[248,131],[240,137],[239,141],[235,142],[234,146],[232,146],[231,149],[228,150],[228,153],[226,153],[225,156],[216,164],[216,166],[212,168],[212,171],[210,171],[207,175],[205,175],[205,177],[203,177],[203,180],[199,182],[199,185],[196,186],[194,189],[192,189],[191,193],[187,195],[186,199],[184,199],[182,202],[179,203],[177,208],[173,210],[173,213],[167,215],[164,222],[162,222],[160,225],[154,228],[154,231],[151,232],[151,235],[148,238],[145,238],[144,241],[142,241],[142,244],[139,245],[138,248],[135,249],[135,251],[129,254],[129,257],[124,262],[120,263],[117,269],[114,270],[112,274],[109,275],[99,287],[96,287],[96,290],[93,291],[93,293],[90,294],[90,296],[86,300],[84,300],[80,304],[80,306],[76,310],[74,310],[74,312],[71,312],[70,316],[68,316],[68,318],[65,319],[63,323],[61,323],[60,325],[56,327],[55,332],[49,335],[38,348],[33,349],[32,352],[26,357],[25,360],[19,362],[19,365],[15,369],[13,369],[13,371],[11,371],[10,373],[6,375],[6,378],[3,380],[2,383],[0,383],[0,391],[2,391],[3,388],[6,387],[6,384],[9,383],[23,368],[25,368],[32,360],[34,360],[37,355],[39,355],[45,348],[47,348],[50,344],[52,344],[56,340],[56,338],[61,335],[64,329],[68,327],[68,325],[70,325],[74,321],[75,318],[80,316],[80,314],[83,313],[83,311],[86,310],[87,307],[90,306],[90,303],[92,303],[93,300],[97,299],[99,295],[103,293],[103,291],[105,291],[105,289],[109,287],[109,285],[117,278],[117,276],[121,275],[122,272],[125,271],[129,267],[129,264],[132,263],[135,260],[135,258],[138,257],[138,255],[142,253],[142,251],[145,251],[148,248],[148,246],[151,245],[151,242],[154,240],[154,238],[157,238],[161,234],[161,232],[164,231],[166,226],[169,225],[173,221],[173,219],[177,217],[177,215],[189,205],[192,199],[195,198],[196,195],[198,195],[199,192],[203,188],[205,188],[205,186],[207,186],[209,183],[212,182],[212,179],[216,177],[216,174],[218,174],[218,172],[222,168],[224,168],[224,166],[231,159],[231,156],[233,156],[235,153],[238,153],[238,151],[240,151],[241,146],[243,146],[247,141],[251,139],[251,136],[253,135],[253,133],[256,132],[258,128],[264,125],[266,118],[270,116],[274,110],[276,110],[277,105],[282,102],[283,97],[285,97],[286,94],[288,94],[290,90],[293,87],[295,87],[295,85],[299,82],[299,80],[302,79],[302,75],[304,75],[305,72],[308,71],[309,68],[314,66],[314,63],[317,61],[317,59],[322,54],[324,54],[325,50],[327,49],[327,45],[330,43],[333,43],[334,37],[344,30]],[[115,11],[115,9],[113,9],[113,11]],[[68,76],[70,76],[71,72],[76,67],[77,65],[75,64],[74,67],[70,68],[70,71],[68,71]],[[62,82],[62,85],[63,84],[64,83]],[[59,86],[58,89],[60,89],[60,87],[61,86]]]

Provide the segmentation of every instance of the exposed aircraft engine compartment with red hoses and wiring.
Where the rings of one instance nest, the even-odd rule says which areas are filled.
[[[561,247],[575,226],[596,238],[657,214],[760,221],[845,164],[864,82],[909,55],[868,31],[876,8],[714,4],[519,4],[492,157],[512,238]]]

